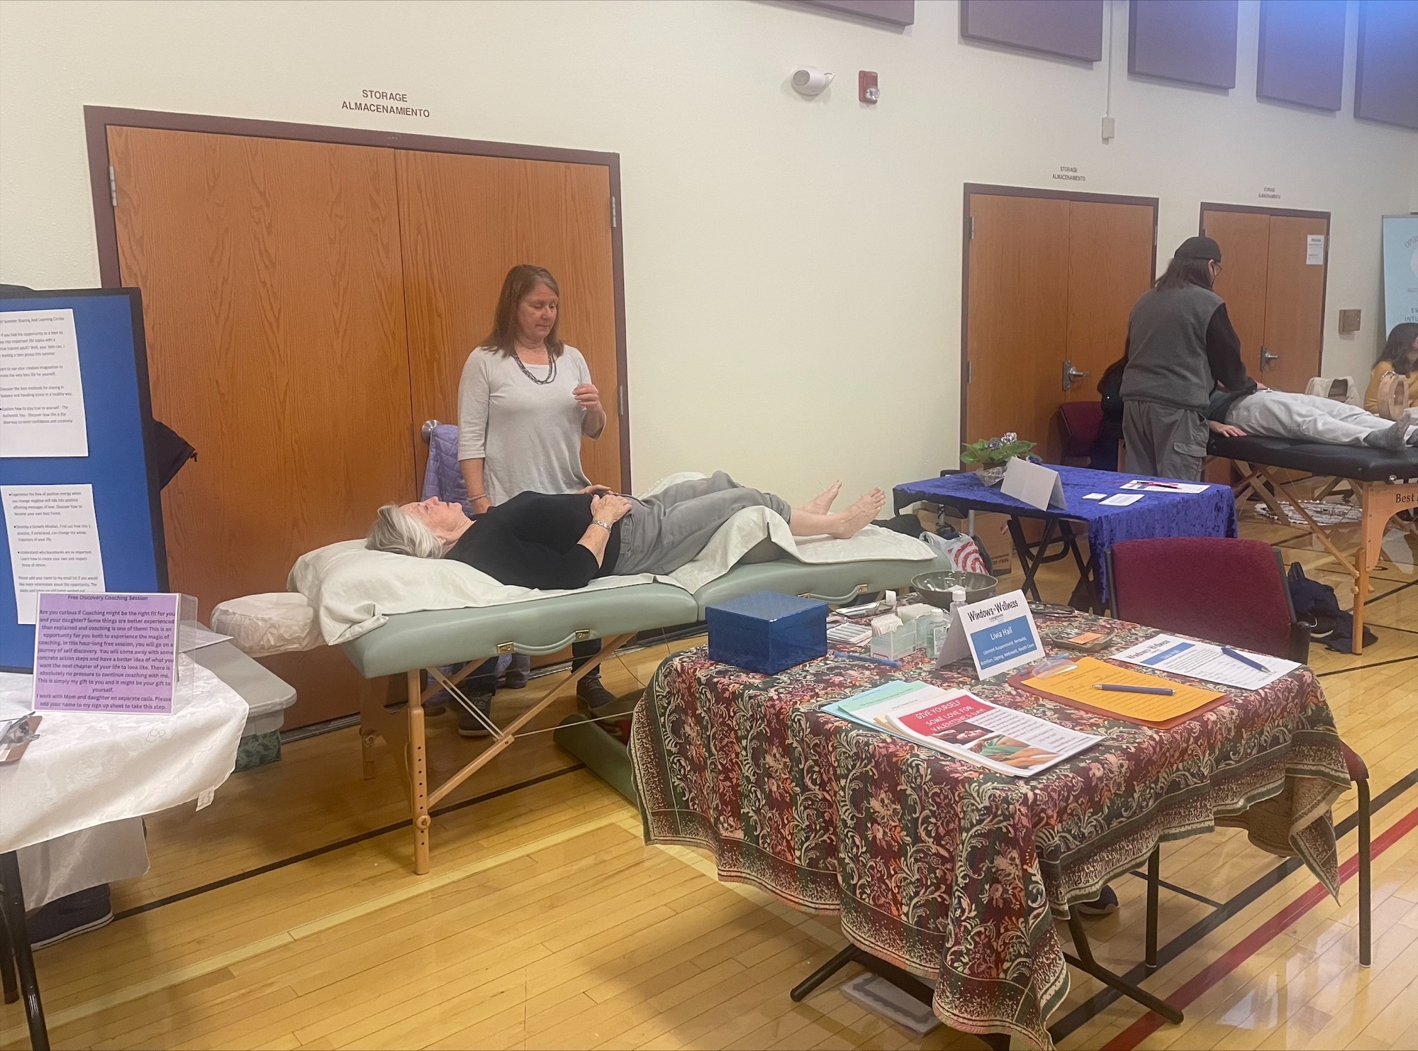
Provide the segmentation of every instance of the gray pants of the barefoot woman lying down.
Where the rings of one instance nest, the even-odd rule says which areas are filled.
[[[712,478],[671,485],[645,499],[631,499],[621,519],[621,550],[615,573],[674,573],[709,543],[719,526],[744,508],[770,508],[788,521],[793,508],[781,496],[739,485],[723,471]]]

